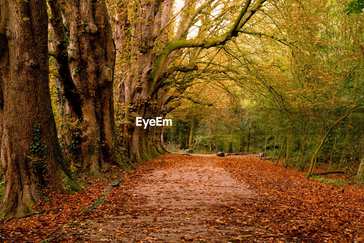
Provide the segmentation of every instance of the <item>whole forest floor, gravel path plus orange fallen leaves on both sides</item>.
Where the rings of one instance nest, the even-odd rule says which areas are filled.
[[[363,186],[248,156],[164,155],[138,169],[48,192],[39,214],[1,223],[0,242],[364,242]]]

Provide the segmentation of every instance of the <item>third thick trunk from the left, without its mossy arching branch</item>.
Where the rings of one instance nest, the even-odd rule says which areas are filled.
[[[124,69],[127,71],[120,78],[118,93],[118,101],[122,108],[121,115],[128,120],[122,125],[122,141],[133,162],[143,163],[144,159],[155,158],[165,152],[164,147],[160,145],[159,127],[144,129],[143,126],[135,126],[135,117],[155,119],[158,114],[161,114],[160,101],[163,99],[163,92],[162,94],[159,92],[159,95],[157,95],[158,92],[151,93],[149,81],[150,72],[154,67],[154,41],[157,37],[162,42],[167,41],[163,39],[163,36],[168,31],[166,24],[171,16],[172,4],[172,1],[163,4],[158,1],[142,1],[143,9],[138,8],[135,12],[140,19],[132,22],[130,28],[127,22],[127,3],[122,2],[119,6],[120,12],[115,18],[114,35],[118,49],[125,51],[126,40],[128,40],[130,43],[127,52],[130,51],[135,56],[130,62],[124,60],[127,63]],[[160,32],[162,26],[166,29]],[[120,51],[121,59],[127,58],[123,54],[124,52]]]

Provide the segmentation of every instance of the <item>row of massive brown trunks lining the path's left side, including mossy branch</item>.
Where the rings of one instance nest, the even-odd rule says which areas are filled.
[[[201,14],[202,21],[208,20],[212,1],[197,10],[191,10],[193,1],[186,1],[173,40],[169,39],[173,1],[118,3],[115,38],[120,54],[128,60],[123,63],[128,72],[119,80],[118,101],[124,120],[119,143],[113,104],[116,49],[106,3],[49,0],[48,19],[45,0],[18,1],[16,5],[0,0],[1,167],[5,178],[1,213],[11,217],[33,211],[32,205],[46,189],[59,193],[80,190],[68,169],[77,163],[94,177],[102,177],[100,170],[106,162],[130,169],[133,162],[165,153],[161,129],[137,127],[135,117],[165,117],[177,107],[178,102],[170,101],[178,99],[187,86],[171,88],[167,84],[189,82],[177,73],[197,70],[195,61],[201,50],[237,36],[264,2],[258,0],[250,6],[250,0],[246,1],[232,26],[220,36],[209,38],[208,28],[201,28],[201,38],[187,39]],[[52,27],[49,36],[48,23]],[[193,48],[191,63],[171,65],[185,48]],[[56,62],[54,70],[48,67],[50,57]],[[63,153],[48,72],[54,74],[58,90],[58,136]],[[70,158],[70,165],[64,156]]]

